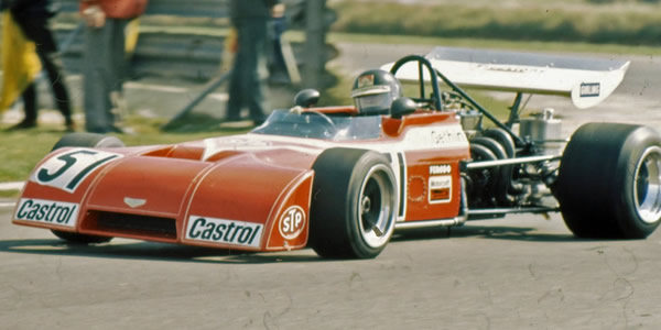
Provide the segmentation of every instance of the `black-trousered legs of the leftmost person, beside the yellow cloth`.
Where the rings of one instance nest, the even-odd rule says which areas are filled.
[[[74,130],[72,106],[65,85],[62,65],[57,54],[57,45],[48,26],[50,19],[56,13],[50,0],[13,0],[3,1],[3,7],[9,2],[9,9],[14,21],[20,26],[25,37],[36,45],[36,54],[43,69],[48,76],[55,105],[64,116],[67,131]],[[23,110],[25,118],[11,129],[30,129],[36,127],[37,94],[36,84],[31,81],[22,92]]]

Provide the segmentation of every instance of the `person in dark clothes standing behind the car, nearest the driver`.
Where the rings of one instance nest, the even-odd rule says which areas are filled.
[[[267,72],[267,23],[278,0],[231,0],[231,23],[238,34],[238,50],[234,59],[227,102],[227,121],[241,119],[241,109],[248,107],[256,125],[264,119]]]

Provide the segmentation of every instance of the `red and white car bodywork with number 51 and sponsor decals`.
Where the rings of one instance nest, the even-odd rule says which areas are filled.
[[[354,108],[314,110],[350,114]],[[61,148],[34,169],[13,223],[247,251],[301,249],[315,221],[308,219],[312,166],[338,146],[389,155],[398,223],[459,215],[459,162],[469,158],[468,142],[454,113],[419,111],[401,120],[383,116],[380,138],[368,141],[248,133],[175,145]]]

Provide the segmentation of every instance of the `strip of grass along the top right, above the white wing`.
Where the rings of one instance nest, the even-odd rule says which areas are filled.
[[[438,1],[413,6],[390,1],[334,1],[333,31],[516,41],[660,45],[657,3],[594,4],[491,1],[475,6]]]

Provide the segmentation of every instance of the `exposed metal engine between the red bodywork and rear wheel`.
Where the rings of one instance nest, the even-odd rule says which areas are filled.
[[[466,116],[464,116],[466,114]],[[474,113],[464,111],[473,162],[464,174],[470,209],[549,207],[557,177],[562,146],[561,120],[553,110],[521,119],[517,141],[502,128],[480,129]],[[475,127],[470,124],[476,123]]]

